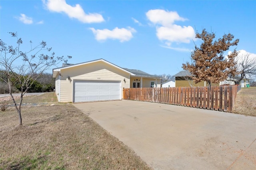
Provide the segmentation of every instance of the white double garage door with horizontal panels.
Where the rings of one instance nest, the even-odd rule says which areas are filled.
[[[74,81],[74,102],[121,100],[121,81]]]

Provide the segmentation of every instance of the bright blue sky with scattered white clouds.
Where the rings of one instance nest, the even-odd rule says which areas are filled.
[[[44,40],[73,64],[102,58],[173,75],[190,61],[194,43],[200,45],[195,32],[204,28],[216,38],[232,33],[237,50],[256,56],[256,1],[0,1],[0,39],[13,43],[11,31],[24,45]]]

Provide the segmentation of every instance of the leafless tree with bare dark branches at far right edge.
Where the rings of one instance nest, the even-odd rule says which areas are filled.
[[[230,75],[230,80],[235,82],[235,84],[240,84],[240,82],[246,78],[256,78],[256,57],[251,57],[251,53],[246,53],[238,55],[236,57],[236,65],[234,68],[237,70],[239,77],[238,80],[232,78]]]

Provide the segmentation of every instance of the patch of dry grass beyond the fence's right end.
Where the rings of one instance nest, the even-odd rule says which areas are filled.
[[[256,87],[242,88],[238,92],[232,112],[256,116]]]

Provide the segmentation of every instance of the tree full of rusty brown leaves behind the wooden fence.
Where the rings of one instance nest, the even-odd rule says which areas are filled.
[[[224,34],[218,41],[214,41],[215,33],[208,33],[205,29],[202,33],[196,33],[196,38],[202,40],[200,47],[195,45],[191,53],[192,63],[182,64],[184,70],[188,70],[193,76],[194,83],[206,81],[209,86],[212,83],[219,83],[225,80],[229,74],[235,75],[236,64],[234,59],[238,55],[236,49],[224,59],[224,52],[230,46],[238,44],[239,39],[232,42],[234,35]]]

